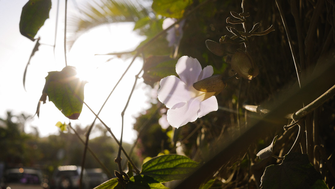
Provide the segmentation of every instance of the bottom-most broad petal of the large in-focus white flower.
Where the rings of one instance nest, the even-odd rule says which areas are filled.
[[[175,128],[194,122],[198,118],[199,108],[200,101],[193,98],[180,108],[167,110],[167,121]]]

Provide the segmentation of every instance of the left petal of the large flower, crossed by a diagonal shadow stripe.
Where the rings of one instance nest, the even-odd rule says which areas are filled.
[[[186,103],[191,99],[190,91],[184,82],[176,76],[167,76],[159,82],[158,100],[165,104],[167,108],[172,108],[175,104]]]

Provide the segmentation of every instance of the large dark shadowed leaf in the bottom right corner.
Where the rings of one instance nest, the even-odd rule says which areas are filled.
[[[266,167],[261,178],[264,189],[327,189],[322,176],[308,160],[307,154],[293,152],[286,154],[279,165]]]

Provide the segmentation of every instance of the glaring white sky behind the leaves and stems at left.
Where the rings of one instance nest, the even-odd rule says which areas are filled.
[[[60,71],[65,66],[63,49],[65,1],[60,1],[56,58],[53,47],[41,45],[28,66],[26,91],[24,90],[23,72],[35,45],[35,42],[23,37],[19,32],[21,10],[26,2],[27,0],[0,1],[0,17],[3,18],[0,21],[0,116],[2,118],[5,118],[7,110],[12,110],[14,114],[25,112],[34,115],[47,72]],[[50,18],[36,35],[36,38],[41,37],[40,43],[51,45],[54,43],[57,0],[52,0],[52,3]],[[68,17],[76,13],[73,1],[68,1]],[[96,27],[83,34],[67,53],[68,65],[76,66],[77,69],[84,70],[87,72],[86,75],[89,75],[89,83],[85,85],[85,102],[96,113],[129,65],[131,58],[125,60],[115,57],[106,62],[112,56],[94,54],[134,49],[144,38],[132,31],[133,26],[133,23],[115,23]],[[100,113],[100,118],[111,128],[117,138],[120,138],[121,134],[121,111],[135,81],[134,76],[139,72],[142,64],[141,58],[135,60]],[[124,116],[124,141],[126,142],[136,139],[132,124],[135,123],[135,116],[150,107],[149,93],[150,87],[143,83],[143,79],[139,79]],[[94,115],[84,105],[79,120],[71,120],[71,124],[86,126],[93,120]],[[41,136],[56,134],[59,131],[55,126],[58,121],[69,123],[69,119],[47,100],[46,104],[41,105],[40,118],[35,116],[30,120],[25,126],[25,131],[31,132],[31,126],[37,126]]]

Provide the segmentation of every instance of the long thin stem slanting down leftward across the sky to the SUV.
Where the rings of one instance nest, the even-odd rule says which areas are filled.
[[[126,68],[126,70],[124,71],[124,73],[122,74],[122,76],[120,77],[119,81],[115,84],[114,88],[112,89],[112,91],[109,93],[108,97],[106,98],[104,104],[101,106],[100,110],[98,111],[97,115],[99,115],[99,113],[101,112],[101,110],[103,109],[103,107],[105,106],[105,104],[107,103],[109,97],[112,95],[112,93],[114,92],[115,88],[119,85],[120,81],[122,80],[122,78],[126,75],[126,73],[128,72],[130,66],[134,63],[136,57],[138,56],[138,53],[136,53],[132,59],[132,61],[130,62],[130,64],[128,65],[128,67]],[[85,142],[85,147],[84,147],[84,153],[83,153],[83,158],[82,158],[82,163],[81,163],[81,166],[82,168],[84,168],[84,165],[85,165],[85,159],[86,159],[86,152],[87,152],[87,149],[88,149],[88,141],[89,141],[89,135],[91,133],[91,130],[94,126],[94,123],[96,121],[96,117],[94,118],[91,126],[89,127],[88,131],[87,131],[87,134],[86,134],[86,142]],[[82,172],[83,172],[83,169],[81,170],[81,173],[80,173],[80,180],[82,180]]]

